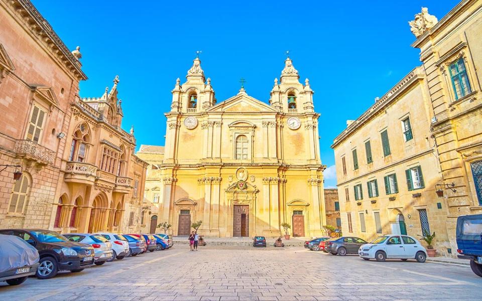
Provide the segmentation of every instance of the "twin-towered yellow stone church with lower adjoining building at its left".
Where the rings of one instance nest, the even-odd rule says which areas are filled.
[[[186,81],[177,79],[165,116],[165,146],[137,153],[149,163],[150,232],[167,222],[174,235],[188,235],[202,221],[198,232],[215,237],[278,237],[283,223],[292,236],[323,233],[320,115],[290,58],[267,104],[243,87],[217,102],[197,57]]]

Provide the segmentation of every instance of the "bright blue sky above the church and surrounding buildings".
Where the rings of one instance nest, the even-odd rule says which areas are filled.
[[[80,46],[89,79],[80,95],[101,96],[119,75],[123,127],[140,144],[164,145],[171,90],[185,79],[195,51],[218,102],[247,81],[251,96],[268,102],[290,50],[300,80],[315,91],[323,164],[334,164],[330,145],[345,127],[420,65],[408,21],[428,7],[439,20],[455,0],[132,2],[33,0],[67,47]],[[333,168],[325,186],[336,185]]]

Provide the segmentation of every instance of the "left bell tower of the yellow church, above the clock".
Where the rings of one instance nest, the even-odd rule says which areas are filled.
[[[201,68],[201,60],[196,57],[191,69],[187,71],[186,82],[181,85],[181,80],[176,80],[172,90],[171,112],[196,113],[205,111],[216,103],[211,79],[207,81]]]

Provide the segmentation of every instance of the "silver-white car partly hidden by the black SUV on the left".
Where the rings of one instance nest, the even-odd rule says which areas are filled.
[[[104,237],[90,233],[64,234],[70,241],[89,244],[94,248],[94,263],[102,265],[112,258],[112,244]]]

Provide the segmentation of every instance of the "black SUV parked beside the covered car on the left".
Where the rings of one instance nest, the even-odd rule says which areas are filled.
[[[87,244],[69,241],[64,236],[42,229],[4,229],[0,234],[18,236],[33,245],[40,255],[39,279],[48,279],[57,272],[80,272],[94,264],[94,249]]]

